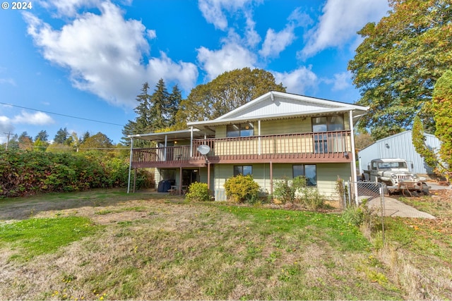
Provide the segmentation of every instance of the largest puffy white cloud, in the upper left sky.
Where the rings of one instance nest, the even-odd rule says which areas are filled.
[[[55,1],[57,3],[57,1]],[[97,1],[73,0],[60,11]],[[135,106],[136,92],[153,75],[155,81],[174,80],[186,90],[195,85],[198,70],[193,63],[175,63],[162,54],[143,64],[149,54],[148,39],[156,37],[155,30],[146,30],[138,20],[124,20],[121,9],[109,1],[98,4],[100,14],[85,12],[55,30],[49,24],[24,13],[28,34],[40,47],[45,59],[71,72],[74,87],[91,92],[115,105]],[[159,69],[165,66],[167,68]],[[167,82],[168,83],[168,82]]]

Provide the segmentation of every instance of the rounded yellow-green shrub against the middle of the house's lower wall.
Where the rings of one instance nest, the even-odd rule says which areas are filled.
[[[238,203],[254,203],[259,198],[259,185],[251,175],[235,176],[226,180],[227,199]]]

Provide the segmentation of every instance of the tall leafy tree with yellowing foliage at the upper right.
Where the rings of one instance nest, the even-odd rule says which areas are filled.
[[[412,126],[420,114],[434,132],[429,105],[436,80],[452,65],[452,6],[446,0],[391,0],[378,24],[368,23],[349,70],[369,106],[360,127],[380,139]]]

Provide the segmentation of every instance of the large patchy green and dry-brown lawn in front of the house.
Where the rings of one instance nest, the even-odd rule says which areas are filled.
[[[422,276],[422,257],[405,258],[410,233],[391,234],[409,223],[387,224],[389,247],[374,247],[338,214],[118,190],[2,199],[0,299],[410,299],[419,292],[398,269],[409,259]],[[444,279],[447,244],[429,254],[449,264]],[[427,284],[425,298],[451,299]]]

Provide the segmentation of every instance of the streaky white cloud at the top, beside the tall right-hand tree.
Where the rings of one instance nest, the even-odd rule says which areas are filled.
[[[307,32],[307,44],[298,56],[306,59],[349,42],[364,25],[385,16],[388,8],[387,0],[328,0],[319,25]]]

